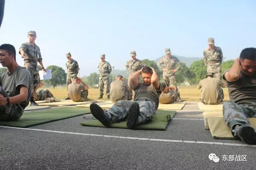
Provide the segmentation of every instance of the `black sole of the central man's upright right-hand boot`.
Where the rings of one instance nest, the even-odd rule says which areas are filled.
[[[138,119],[138,117],[140,115],[139,104],[138,103],[133,103],[131,105],[131,108],[129,109],[128,113],[129,113],[129,116],[128,116],[128,120],[127,120],[126,126],[129,129],[132,129],[132,128],[137,126],[136,122],[137,122],[137,119]]]

